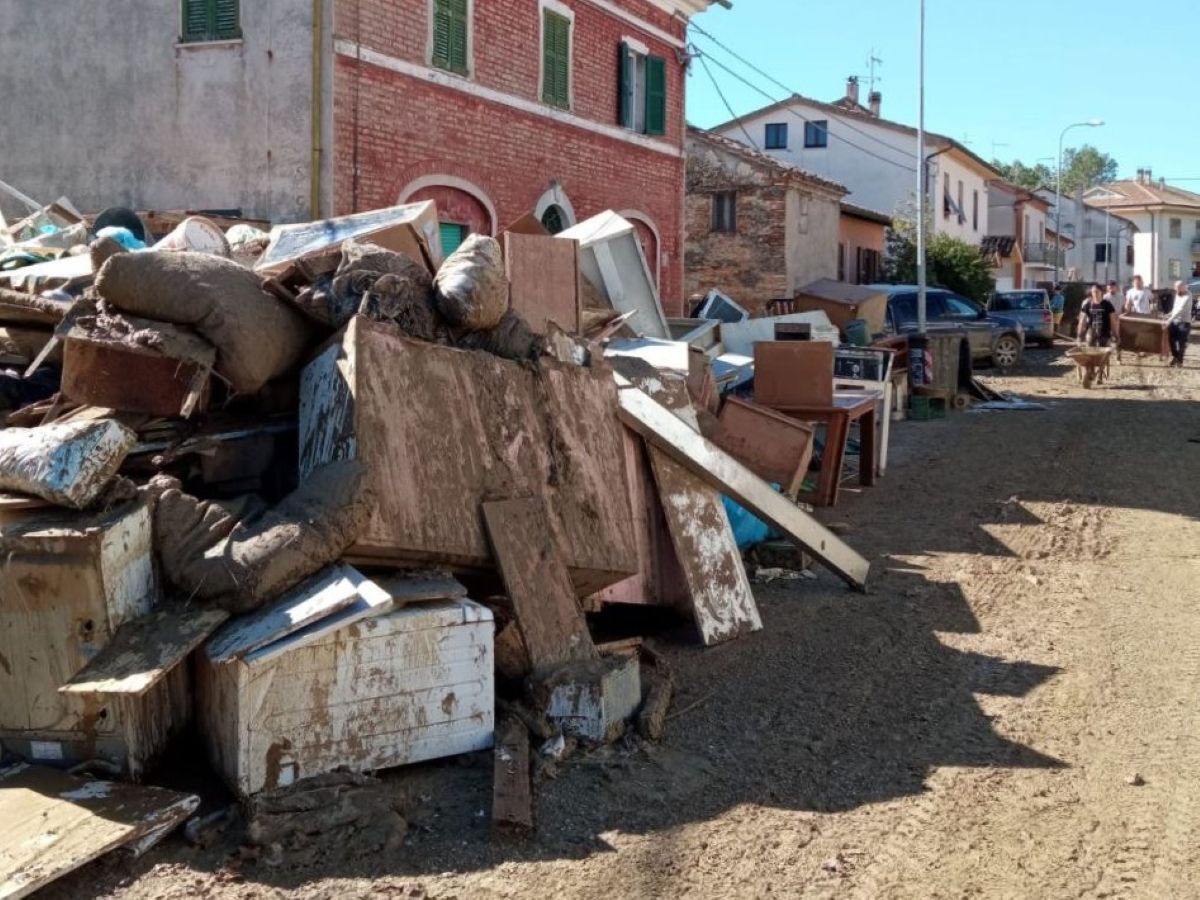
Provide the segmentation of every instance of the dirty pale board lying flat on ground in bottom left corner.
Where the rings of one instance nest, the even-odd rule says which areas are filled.
[[[193,794],[41,766],[0,772],[0,898],[17,900],[110,850],[179,824]]]

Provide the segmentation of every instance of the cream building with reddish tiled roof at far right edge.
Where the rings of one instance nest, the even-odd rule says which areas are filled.
[[[1200,274],[1200,194],[1139,169],[1135,179],[1091,188],[1084,200],[1136,226],[1133,271],[1148,286],[1169,288]]]

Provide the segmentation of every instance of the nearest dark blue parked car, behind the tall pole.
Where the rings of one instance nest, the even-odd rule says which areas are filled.
[[[917,332],[917,286],[871,284],[888,295],[887,329],[893,334]],[[965,296],[944,288],[925,289],[926,331],[965,331],[971,343],[971,358],[1009,368],[1021,359],[1025,329],[1015,318],[989,313]]]

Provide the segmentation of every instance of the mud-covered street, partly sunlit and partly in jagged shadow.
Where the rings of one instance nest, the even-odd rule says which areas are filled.
[[[665,740],[568,761],[535,838],[490,836],[485,754],[384,776],[396,852],[176,836],[44,895],[1200,896],[1200,347],[1092,390],[1061,350],[985,373],[1048,409],[902,422],[823,515],[868,594],[820,572],[758,587],[745,640],[660,632]]]

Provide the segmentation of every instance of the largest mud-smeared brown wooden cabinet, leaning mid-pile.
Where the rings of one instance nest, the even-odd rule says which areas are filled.
[[[368,464],[379,503],[347,554],[362,563],[491,568],[479,504],[545,497],[583,595],[637,565],[614,410],[602,368],[535,373],[356,318],[304,372],[301,472]]]

